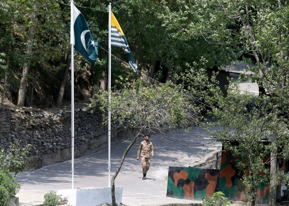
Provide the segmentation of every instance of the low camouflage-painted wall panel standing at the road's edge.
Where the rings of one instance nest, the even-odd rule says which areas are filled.
[[[202,200],[219,189],[220,170],[169,167],[167,197]]]

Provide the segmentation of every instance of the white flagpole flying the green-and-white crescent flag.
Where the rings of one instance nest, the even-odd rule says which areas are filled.
[[[71,34],[73,34],[73,0],[70,1],[70,44],[71,44],[71,173],[72,173],[72,189],[74,176],[74,58],[73,58],[73,43]]]

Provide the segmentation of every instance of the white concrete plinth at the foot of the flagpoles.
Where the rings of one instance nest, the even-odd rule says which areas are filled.
[[[67,204],[71,206],[96,206],[99,204],[112,203],[111,188],[88,188],[88,189],[61,189],[57,195],[67,198]],[[115,201],[120,203],[123,196],[123,187],[115,187]]]

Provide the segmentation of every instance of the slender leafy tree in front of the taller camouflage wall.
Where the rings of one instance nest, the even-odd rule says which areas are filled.
[[[284,108],[280,109],[287,99],[272,104],[264,95],[254,97],[248,91],[241,92],[238,82],[233,80],[229,81],[227,95],[224,96],[216,74],[209,79],[204,68],[192,66],[182,80],[190,85],[188,90],[194,97],[210,106],[207,115],[216,118],[216,122],[205,123],[207,131],[222,141],[224,151],[238,157],[235,161],[241,172],[241,183],[253,206],[258,201],[257,188],[276,176],[270,173],[270,163],[278,157],[288,158],[289,155],[288,119],[282,117]],[[210,126],[221,126],[223,129],[210,131]],[[272,137],[277,141],[272,142]],[[269,141],[269,144],[263,141]],[[273,158],[270,157],[272,153],[275,154]]]

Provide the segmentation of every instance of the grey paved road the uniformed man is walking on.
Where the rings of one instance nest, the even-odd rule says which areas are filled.
[[[161,135],[151,135],[154,145],[154,158],[151,158],[151,168],[147,179],[142,180],[140,161],[136,160],[138,146],[144,138],[140,138],[129,151],[119,175],[115,180],[116,186],[123,186],[123,204],[159,205],[168,203],[186,203],[188,200],[178,200],[166,197],[167,175],[169,166],[191,166],[206,154],[221,149],[221,143],[209,142],[207,133],[200,127],[192,128],[189,133],[177,131],[166,134],[172,141]],[[111,145],[111,176],[116,170],[120,158],[130,141]],[[186,147],[180,144],[193,145]],[[201,146],[196,146],[201,145]],[[204,149],[206,149],[204,151]],[[74,160],[75,188],[93,188],[108,186],[107,149],[89,156]],[[43,202],[44,194],[49,190],[71,189],[71,161],[45,166],[31,173],[22,173],[17,177],[21,184],[19,197],[20,205],[35,205]]]

